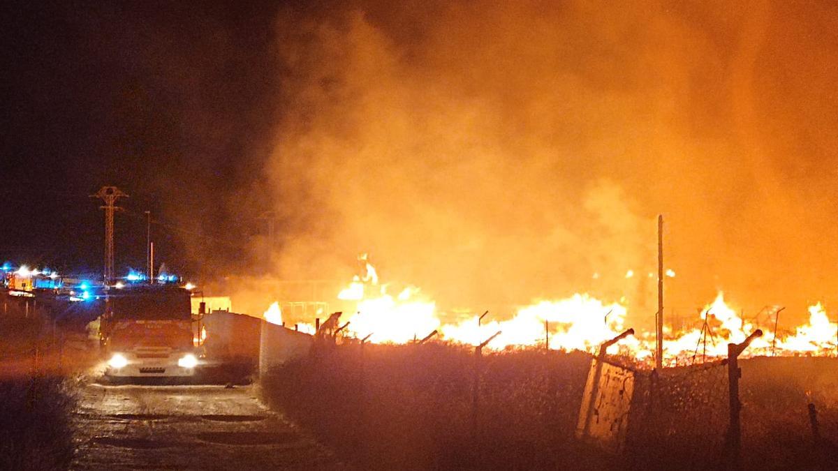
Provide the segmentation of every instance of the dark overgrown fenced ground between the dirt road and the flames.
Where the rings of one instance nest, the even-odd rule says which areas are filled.
[[[745,347],[732,347],[733,360],[654,371],[582,352],[331,344],[281,366],[262,385],[293,420],[372,468],[834,463],[838,362],[737,360]],[[611,382],[591,391],[597,362],[608,365],[603,377]],[[617,431],[622,445],[577,439],[585,413],[602,422],[600,431]]]

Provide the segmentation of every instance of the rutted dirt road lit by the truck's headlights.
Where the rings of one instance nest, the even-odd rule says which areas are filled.
[[[84,386],[73,469],[345,469],[255,386]]]

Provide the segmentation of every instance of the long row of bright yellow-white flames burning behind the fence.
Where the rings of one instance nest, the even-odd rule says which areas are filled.
[[[360,256],[362,275],[337,294],[339,300],[354,303],[354,313],[346,316],[349,322],[345,337],[368,339],[374,343],[404,344],[422,339],[434,331],[445,341],[478,345],[500,333],[487,344],[489,349],[515,346],[541,346],[560,350],[596,352],[599,345],[621,334],[626,325],[627,309],[621,303],[606,303],[586,293],[556,300],[539,300],[515,310],[510,318],[484,318],[470,315],[456,322],[443,322],[450,316],[437,312],[437,305],[416,287],[401,289],[397,295],[388,292],[388,285],[379,285],[379,277],[366,256]],[[626,276],[634,276],[629,271]],[[671,270],[668,277],[675,277]],[[768,320],[776,322],[778,310],[769,313]],[[838,347],[838,323],[830,322],[820,304],[810,306],[809,323],[800,325],[791,334],[778,334],[773,325],[758,325],[742,319],[737,309],[728,305],[724,293],[719,292],[712,303],[696,316],[700,328],[682,332],[665,329],[665,365],[714,360],[727,356],[727,344],[741,343],[748,334],[763,329],[766,334],[754,339],[747,355],[835,355]],[[774,316],[774,317],[773,317]],[[282,323],[278,303],[265,313],[268,322]],[[485,319],[485,320],[484,320]],[[343,322],[343,320],[342,320]],[[297,329],[310,334],[314,326],[299,323]],[[776,335],[776,338],[775,338]],[[654,335],[639,335],[613,344],[608,353],[634,356],[641,362],[654,359]]]

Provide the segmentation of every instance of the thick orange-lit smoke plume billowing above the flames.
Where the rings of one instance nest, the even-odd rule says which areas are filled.
[[[268,165],[283,278],[442,307],[587,291],[834,299],[835,11],[788,3],[381,3],[280,18]],[[834,8],[833,8],[834,10]],[[626,273],[634,271],[634,277]]]

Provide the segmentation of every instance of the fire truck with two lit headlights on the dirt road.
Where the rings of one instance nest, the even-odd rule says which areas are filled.
[[[190,292],[167,284],[109,290],[99,339],[107,376],[192,376],[199,364]]]

